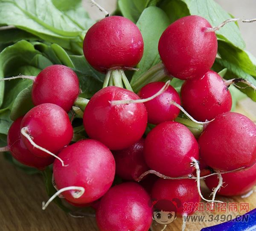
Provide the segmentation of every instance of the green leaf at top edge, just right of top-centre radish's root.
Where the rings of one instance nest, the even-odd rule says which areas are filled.
[[[148,6],[155,6],[159,0],[118,0],[122,15],[136,23],[140,14]],[[151,15],[154,18],[154,15]]]

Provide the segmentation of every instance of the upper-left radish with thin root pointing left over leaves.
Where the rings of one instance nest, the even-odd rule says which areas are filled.
[[[35,77],[32,86],[32,101],[35,106],[53,103],[69,112],[79,94],[76,73],[64,65],[44,68]]]

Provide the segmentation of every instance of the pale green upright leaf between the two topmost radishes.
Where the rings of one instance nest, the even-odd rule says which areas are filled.
[[[144,53],[140,63],[137,65],[140,70],[134,73],[131,83],[149,68],[160,62],[157,49],[158,41],[169,24],[170,21],[165,12],[156,6],[146,8],[141,14],[137,26],[143,37]]]

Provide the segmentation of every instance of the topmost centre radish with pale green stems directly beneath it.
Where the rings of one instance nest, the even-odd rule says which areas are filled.
[[[84,37],[84,56],[97,71],[136,66],[143,56],[138,27],[125,17],[110,16],[95,23]]]

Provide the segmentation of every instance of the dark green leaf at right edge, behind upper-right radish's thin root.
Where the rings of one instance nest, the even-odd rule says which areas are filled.
[[[215,71],[220,71],[223,68],[227,68],[228,71],[225,74],[225,79],[227,80],[234,78],[243,78],[256,86],[256,80],[253,78],[253,76],[243,71],[239,66],[228,62],[227,60],[216,58],[213,68],[215,69]],[[247,86],[244,83],[236,83],[236,85],[243,87],[239,88],[239,90],[242,91],[244,94],[247,94],[247,96],[250,97],[253,101],[256,101],[256,91],[254,91],[253,88]]]

